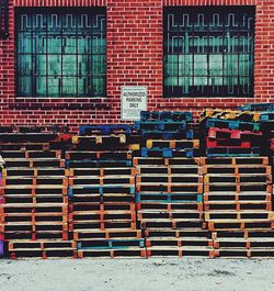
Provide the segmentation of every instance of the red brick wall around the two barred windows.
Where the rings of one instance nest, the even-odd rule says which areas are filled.
[[[164,5],[256,5],[255,97],[162,97],[162,8]],[[14,9],[107,7],[107,97],[38,99],[14,96]],[[10,37],[0,40],[1,124],[118,123],[121,87],[148,87],[149,109],[192,110],[274,102],[274,0],[10,0]]]

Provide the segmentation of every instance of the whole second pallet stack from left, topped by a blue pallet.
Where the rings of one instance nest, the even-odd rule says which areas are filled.
[[[128,125],[83,125],[66,153],[69,231],[82,257],[146,257]]]

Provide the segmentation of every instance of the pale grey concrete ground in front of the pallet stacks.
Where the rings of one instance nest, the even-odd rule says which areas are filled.
[[[271,291],[274,260],[0,260],[2,291]]]

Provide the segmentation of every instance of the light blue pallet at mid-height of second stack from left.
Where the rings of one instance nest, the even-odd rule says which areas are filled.
[[[123,191],[123,190],[127,190],[127,192],[129,194],[135,194],[135,186],[126,186],[126,184],[116,184],[116,186],[111,186],[111,184],[106,184],[106,186],[83,186],[81,188],[73,188],[73,187],[69,187],[68,188],[68,197],[69,198],[73,198],[73,195],[76,194],[76,191],[85,191],[85,190],[94,190],[93,193],[89,193],[89,194],[100,194],[103,195],[104,193],[110,193],[110,190],[113,190],[114,193],[117,193],[118,191]]]

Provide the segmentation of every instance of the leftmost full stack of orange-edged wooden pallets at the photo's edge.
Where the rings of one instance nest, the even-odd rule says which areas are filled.
[[[65,161],[60,150],[50,149],[57,136],[44,127],[1,128],[0,239],[12,258],[75,256]]]

